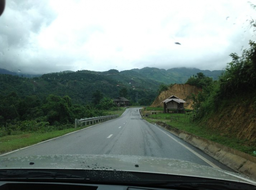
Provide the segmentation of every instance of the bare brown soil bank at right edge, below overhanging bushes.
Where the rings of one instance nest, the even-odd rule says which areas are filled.
[[[256,94],[223,101],[218,110],[205,117],[202,123],[218,130],[221,135],[244,139],[245,144],[255,145],[256,142]]]

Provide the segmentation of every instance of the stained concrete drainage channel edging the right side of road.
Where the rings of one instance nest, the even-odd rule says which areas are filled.
[[[256,179],[256,157],[171,127],[166,123],[156,122],[156,124],[173,135],[201,149],[203,152],[229,168]]]

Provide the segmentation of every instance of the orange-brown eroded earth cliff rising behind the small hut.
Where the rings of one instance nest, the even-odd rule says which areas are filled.
[[[162,91],[151,106],[163,107],[163,104],[161,104],[161,102],[174,95],[187,102],[186,104],[184,104],[185,109],[193,109],[191,106],[193,104],[193,100],[191,100],[189,96],[192,93],[197,94],[199,91],[201,91],[201,88],[198,88],[196,86],[192,86],[189,84],[175,84],[172,87],[169,87],[168,90]]]

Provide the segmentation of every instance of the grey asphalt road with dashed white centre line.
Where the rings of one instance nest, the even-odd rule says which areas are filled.
[[[128,108],[110,121],[2,157],[56,154],[114,154],[174,158],[233,171],[157,125],[143,120],[139,108]]]

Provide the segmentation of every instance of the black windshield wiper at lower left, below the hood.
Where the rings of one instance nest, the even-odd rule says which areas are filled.
[[[85,179],[84,177],[70,174],[63,174],[57,172],[44,171],[14,171],[14,170],[0,170],[0,179],[6,178],[70,178],[70,179]]]

